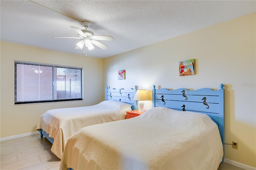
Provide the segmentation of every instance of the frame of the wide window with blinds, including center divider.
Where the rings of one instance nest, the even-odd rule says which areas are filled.
[[[52,99],[50,100],[38,100],[38,101],[17,101],[17,64],[27,64],[27,65],[36,65],[36,66],[48,66],[52,67]],[[81,72],[80,77],[80,93],[81,97],[78,98],[70,98],[70,99],[54,99],[55,95],[55,68],[64,68],[64,69],[79,69]],[[57,81],[57,78],[56,78]],[[57,87],[56,87],[57,88]],[[46,63],[36,63],[36,62],[30,62],[30,61],[18,61],[14,60],[14,105],[20,105],[20,104],[32,104],[32,103],[55,103],[55,102],[62,102],[62,101],[81,101],[83,100],[83,67],[74,67],[74,66],[66,66],[66,65],[56,65],[56,64],[46,64]]]

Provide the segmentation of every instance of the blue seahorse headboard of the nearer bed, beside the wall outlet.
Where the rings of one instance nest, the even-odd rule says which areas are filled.
[[[178,111],[192,111],[208,115],[219,127],[224,151],[224,85],[219,90],[185,88],[152,90],[152,107],[168,107]]]

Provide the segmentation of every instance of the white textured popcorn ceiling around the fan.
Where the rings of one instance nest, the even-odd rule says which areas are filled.
[[[75,49],[78,37],[70,28],[91,24],[96,36],[113,36],[100,41],[108,46],[88,51],[90,57],[106,58],[193,32],[256,12],[256,1],[171,1],[171,0],[1,0],[1,41],[20,43],[84,55]]]

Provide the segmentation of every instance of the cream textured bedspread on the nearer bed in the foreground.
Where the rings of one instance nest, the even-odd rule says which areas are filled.
[[[82,128],[68,140],[60,170],[217,170],[222,156],[210,117],[156,107],[132,119]]]

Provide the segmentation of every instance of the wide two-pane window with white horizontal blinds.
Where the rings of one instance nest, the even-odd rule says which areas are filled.
[[[14,103],[82,100],[81,67],[14,62]]]

